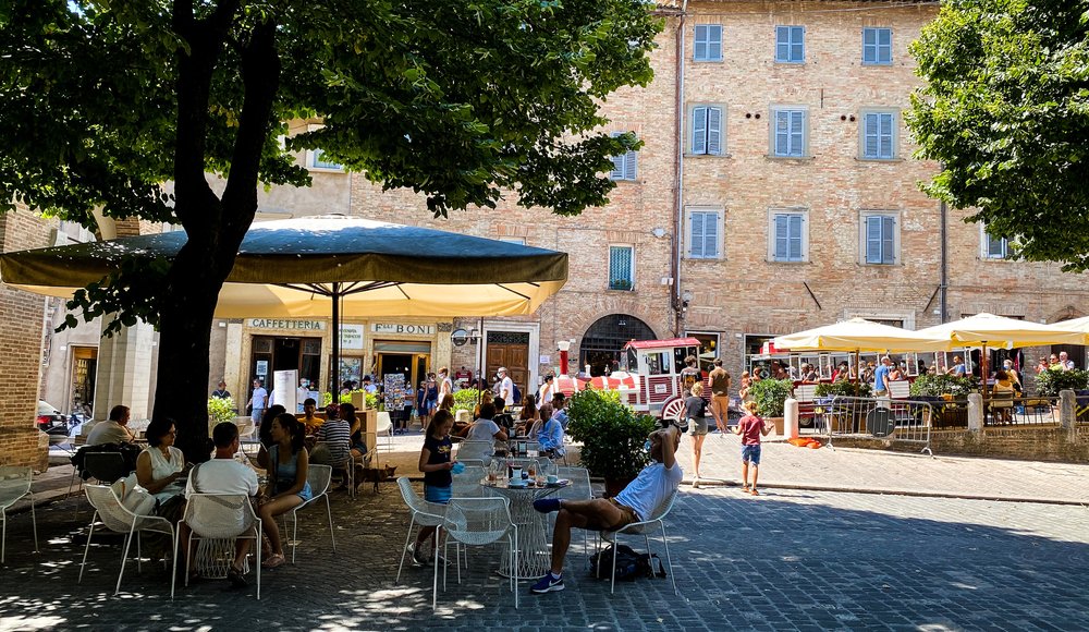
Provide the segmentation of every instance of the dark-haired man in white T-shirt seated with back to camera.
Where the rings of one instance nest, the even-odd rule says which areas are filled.
[[[185,484],[185,497],[194,494],[237,494],[241,496],[257,496],[257,472],[253,467],[234,460],[238,451],[238,427],[231,422],[216,424],[211,430],[216,443],[216,455],[189,472]],[[183,555],[179,560],[189,559],[189,528],[182,522],[179,524],[179,537]],[[237,539],[234,543],[234,563],[227,571],[227,581],[242,587],[246,585],[243,566],[249,552],[248,539]],[[192,568],[192,562],[189,568]],[[195,574],[195,571],[194,571]]]

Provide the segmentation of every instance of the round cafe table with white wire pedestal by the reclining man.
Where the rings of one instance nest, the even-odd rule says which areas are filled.
[[[502,496],[511,502],[511,520],[518,525],[518,567],[515,569],[516,580],[536,580],[549,571],[552,566],[552,556],[548,548],[548,515],[534,509],[534,501],[538,498],[551,496],[563,489],[567,483],[546,486],[526,485],[524,487],[512,487],[507,481],[481,482],[481,485],[489,493]],[[509,576],[506,569],[511,568],[510,549],[503,550],[503,559],[500,564],[500,574]]]

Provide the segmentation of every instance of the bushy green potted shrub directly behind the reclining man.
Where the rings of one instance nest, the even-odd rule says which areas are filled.
[[[650,415],[637,415],[620,402],[620,392],[585,390],[567,404],[567,434],[583,443],[582,464],[605,479],[605,494],[615,496],[650,462],[644,448],[657,427]]]

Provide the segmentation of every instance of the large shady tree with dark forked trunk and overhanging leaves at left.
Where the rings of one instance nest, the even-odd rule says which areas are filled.
[[[70,306],[160,328],[155,415],[206,418],[208,331],[261,184],[303,186],[321,149],[436,215],[504,192],[556,214],[604,204],[600,105],[652,77],[643,0],[10,0],[0,4],[0,209],[94,228],[180,223],[161,265]],[[284,138],[292,120],[323,126]],[[209,174],[225,179],[221,193]],[[163,183],[172,181],[168,195]],[[170,392],[170,398],[162,397]],[[183,421],[184,420],[184,421]]]

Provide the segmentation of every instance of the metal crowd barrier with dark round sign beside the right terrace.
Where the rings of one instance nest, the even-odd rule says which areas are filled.
[[[829,447],[836,437],[866,436],[918,443],[932,457],[930,429],[937,414],[929,401],[836,396],[812,402],[813,428],[828,438]]]

